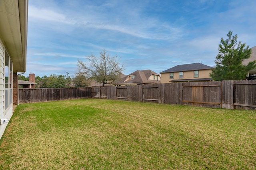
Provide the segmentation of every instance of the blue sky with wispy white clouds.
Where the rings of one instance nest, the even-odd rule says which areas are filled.
[[[29,0],[24,76],[74,75],[105,49],[124,74],[214,66],[221,37],[256,46],[255,0]]]

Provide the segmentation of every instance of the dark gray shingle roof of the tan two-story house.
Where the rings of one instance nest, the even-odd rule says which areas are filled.
[[[180,72],[180,71],[190,71],[190,70],[205,70],[205,69],[212,69],[213,67],[201,64],[201,63],[192,63],[192,64],[182,64],[177,65],[167,70],[164,70],[160,73],[165,72]]]

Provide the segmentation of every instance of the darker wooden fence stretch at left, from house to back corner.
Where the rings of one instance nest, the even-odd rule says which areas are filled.
[[[91,88],[22,88],[19,103],[90,98]]]

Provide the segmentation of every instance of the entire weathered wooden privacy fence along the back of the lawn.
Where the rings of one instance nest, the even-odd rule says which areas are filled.
[[[225,109],[256,109],[255,80],[176,82],[137,86],[69,89],[20,89],[20,103],[74,98],[106,98],[138,102],[192,105]],[[82,94],[80,94],[82,93]]]

